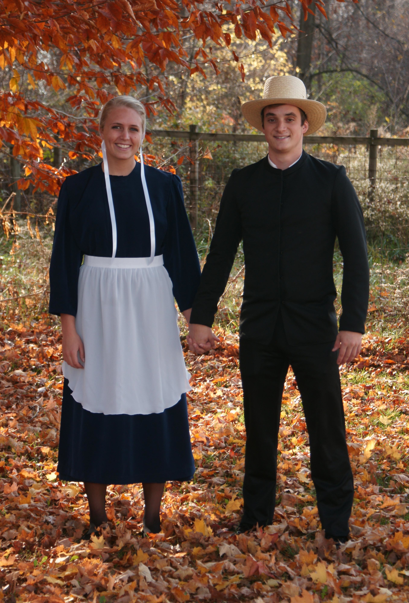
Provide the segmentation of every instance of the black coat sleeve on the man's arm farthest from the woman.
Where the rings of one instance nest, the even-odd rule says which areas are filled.
[[[338,172],[332,194],[335,229],[344,262],[340,330],[365,332],[369,299],[369,265],[364,216],[345,168]]]

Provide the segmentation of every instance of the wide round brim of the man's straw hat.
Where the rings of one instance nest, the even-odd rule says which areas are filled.
[[[304,136],[319,130],[326,120],[326,109],[322,103],[300,98],[261,98],[257,101],[247,101],[241,106],[241,112],[249,124],[262,132],[261,110],[269,105],[294,105],[302,109],[308,121],[308,130]]]

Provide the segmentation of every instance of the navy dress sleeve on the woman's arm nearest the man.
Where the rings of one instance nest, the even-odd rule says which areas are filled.
[[[183,203],[182,182],[173,176],[166,207],[168,229],[163,249],[163,265],[173,284],[180,312],[192,307],[200,282],[197,250]]]

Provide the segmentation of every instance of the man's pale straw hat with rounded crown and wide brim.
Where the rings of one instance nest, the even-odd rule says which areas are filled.
[[[312,134],[325,122],[326,109],[323,104],[308,100],[303,81],[293,75],[269,77],[264,84],[263,98],[244,103],[241,112],[249,124],[262,130],[261,110],[268,105],[277,104],[294,105],[303,110],[308,121],[308,130],[305,134]]]

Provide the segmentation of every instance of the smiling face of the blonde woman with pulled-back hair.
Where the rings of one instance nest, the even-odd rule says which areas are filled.
[[[107,156],[129,160],[139,152],[143,135],[139,113],[128,107],[114,107],[108,113],[101,138],[105,140]]]

